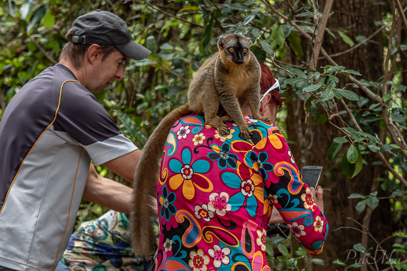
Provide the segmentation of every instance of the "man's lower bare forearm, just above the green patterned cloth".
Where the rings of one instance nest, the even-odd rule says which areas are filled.
[[[83,197],[86,200],[129,214],[131,193],[130,187],[100,176],[91,164],[83,191]]]

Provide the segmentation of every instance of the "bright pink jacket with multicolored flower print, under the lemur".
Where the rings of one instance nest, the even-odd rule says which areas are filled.
[[[272,206],[309,254],[322,252],[328,222],[283,135],[273,124],[244,118],[253,124],[250,140],[231,123],[230,134],[220,135],[202,114],[172,126],[157,186],[156,270],[270,270]]]

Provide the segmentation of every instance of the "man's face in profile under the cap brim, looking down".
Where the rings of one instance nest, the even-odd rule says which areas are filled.
[[[126,56],[119,50],[112,52],[104,61],[103,56],[95,62],[92,75],[92,93],[99,93],[103,88],[112,84],[114,80],[122,80],[124,76],[123,62]]]

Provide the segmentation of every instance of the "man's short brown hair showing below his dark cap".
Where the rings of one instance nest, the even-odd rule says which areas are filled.
[[[73,28],[69,29],[68,34],[65,36],[68,41],[74,36]],[[83,56],[88,51],[92,44],[77,44],[73,42],[68,42],[64,45],[62,52],[60,54],[60,61],[62,58],[67,57],[69,61],[76,67],[80,68],[82,66]],[[102,61],[104,61],[111,53],[118,51],[114,45],[99,45],[101,53],[103,54]]]

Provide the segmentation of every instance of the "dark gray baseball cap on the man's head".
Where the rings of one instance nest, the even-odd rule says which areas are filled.
[[[73,23],[74,36],[70,42],[77,44],[114,45],[126,56],[141,60],[151,51],[134,41],[126,22],[111,12],[97,10],[79,16]]]

